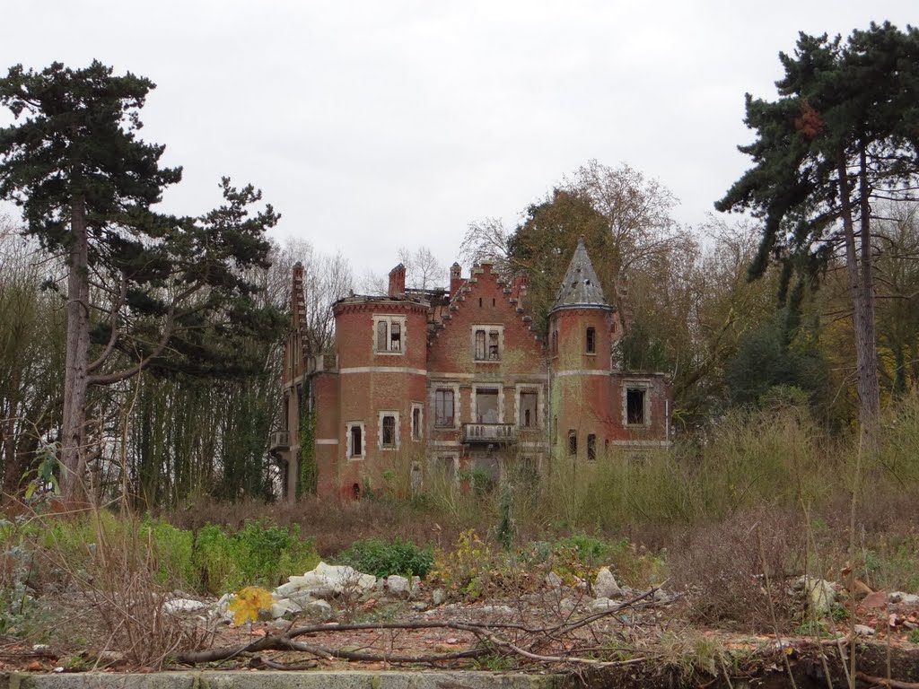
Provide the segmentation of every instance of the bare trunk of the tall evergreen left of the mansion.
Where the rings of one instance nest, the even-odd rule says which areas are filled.
[[[62,496],[85,499],[86,390],[89,356],[89,274],[86,211],[83,198],[71,209],[71,246],[67,275],[67,344],[61,428]]]

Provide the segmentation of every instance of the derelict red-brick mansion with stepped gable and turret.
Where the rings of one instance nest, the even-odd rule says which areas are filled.
[[[525,281],[506,284],[488,264],[469,277],[454,264],[438,290],[406,289],[397,265],[387,294],[335,302],[333,354],[305,349],[301,265],[291,312],[283,425],[272,439],[289,500],[304,462],[320,496],[351,497],[393,467],[419,490],[434,471],[500,480],[511,465],[545,474],[668,442],[670,383],[613,367],[622,325],[583,240],[548,337],[531,327]]]

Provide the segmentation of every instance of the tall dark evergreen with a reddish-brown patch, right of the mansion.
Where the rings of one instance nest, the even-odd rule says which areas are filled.
[[[885,23],[840,37],[800,34],[779,53],[775,102],[746,96],[754,167],[715,204],[764,220],[751,277],[770,257],[814,277],[842,253],[853,305],[859,417],[869,437],[879,411],[872,277],[872,203],[906,198],[919,172],[919,30]],[[795,270],[792,270],[794,268]]]

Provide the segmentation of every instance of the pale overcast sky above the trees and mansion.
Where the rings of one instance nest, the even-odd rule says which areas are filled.
[[[743,173],[743,94],[774,96],[798,31],[919,17],[915,0],[6,0],[0,71],[94,58],[157,84],[142,136],[184,166],[168,210],[252,182],[275,231],[385,274],[451,264],[589,159],[630,164],[699,225]],[[913,10],[912,12],[910,10]],[[0,124],[11,121],[0,113]]]

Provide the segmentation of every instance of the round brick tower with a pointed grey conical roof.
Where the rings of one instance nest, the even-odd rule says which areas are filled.
[[[550,442],[556,458],[593,461],[613,436],[614,312],[581,237],[549,313]]]

